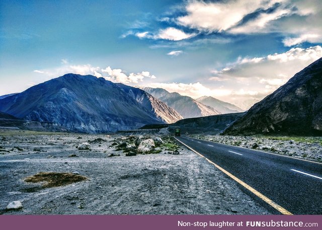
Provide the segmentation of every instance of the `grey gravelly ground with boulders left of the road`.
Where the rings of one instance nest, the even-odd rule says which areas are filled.
[[[1,214],[270,214],[165,134],[0,129],[0,149]]]

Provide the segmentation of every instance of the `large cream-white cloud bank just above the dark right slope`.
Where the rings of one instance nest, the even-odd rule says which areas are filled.
[[[235,86],[234,93],[226,101],[248,109],[247,105],[241,103],[241,99],[254,102],[264,98],[320,57],[320,46],[291,48],[285,53],[274,53],[265,57],[239,57],[234,63],[227,64],[220,70],[213,70],[214,76],[209,80]],[[243,90],[236,90],[238,87]],[[231,101],[233,98],[234,102]]]

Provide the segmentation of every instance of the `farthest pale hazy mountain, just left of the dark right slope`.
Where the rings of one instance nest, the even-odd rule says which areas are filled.
[[[240,109],[239,107],[237,107],[233,104],[220,101],[220,100],[213,98],[213,97],[203,96],[203,97],[196,99],[196,101],[198,101],[204,105],[210,106],[212,108],[215,108],[221,114],[244,112],[243,109]]]

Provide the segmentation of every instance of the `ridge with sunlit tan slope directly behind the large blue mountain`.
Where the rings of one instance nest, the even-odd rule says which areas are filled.
[[[123,89],[124,92],[130,97],[140,103],[145,109],[151,111],[156,118],[163,120],[168,124],[183,119],[183,117],[176,110],[170,108],[166,103],[154,98],[145,91],[126,86],[121,83],[117,83],[116,85]]]

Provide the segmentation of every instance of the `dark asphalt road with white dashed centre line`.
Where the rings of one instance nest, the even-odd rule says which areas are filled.
[[[287,211],[322,214],[322,164],[188,136],[176,138]]]

